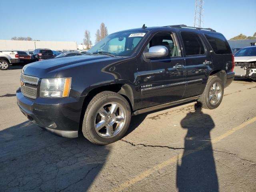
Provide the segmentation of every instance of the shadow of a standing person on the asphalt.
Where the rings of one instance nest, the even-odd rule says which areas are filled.
[[[217,192],[218,176],[212,151],[210,131],[214,122],[199,104],[181,121],[188,132],[184,139],[181,162],[177,162],[176,186],[179,192]],[[181,164],[180,164],[181,163]]]

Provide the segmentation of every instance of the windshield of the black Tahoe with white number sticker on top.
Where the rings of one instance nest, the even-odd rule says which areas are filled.
[[[131,56],[145,34],[146,32],[142,33],[141,31],[110,34],[90,48],[87,53],[104,54],[104,52],[106,52],[114,56]]]

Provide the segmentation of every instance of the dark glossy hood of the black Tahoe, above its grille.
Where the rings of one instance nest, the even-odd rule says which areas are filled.
[[[82,67],[88,64],[103,63],[111,60],[118,60],[118,57],[109,56],[72,56],[42,60],[27,64],[22,69],[25,75],[36,76],[39,78],[54,78],[58,72],[69,68]]]

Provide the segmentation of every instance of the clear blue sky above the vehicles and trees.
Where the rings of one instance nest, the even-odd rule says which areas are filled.
[[[146,26],[194,25],[195,0],[0,0],[0,39],[30,36],[33,40],[92,44],[104,22],[108,33]],[[204,0],[203,27],[230,39],[256,32],[256,0]],[[4,27],[3,27],[4,26]]]

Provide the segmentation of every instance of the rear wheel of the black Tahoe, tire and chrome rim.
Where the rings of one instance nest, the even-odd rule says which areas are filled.
[[[217,108],[223,98],[224,86],[218,76],[209,76],[202,96],[198,99],[198,104],[205,109]]]

